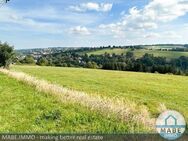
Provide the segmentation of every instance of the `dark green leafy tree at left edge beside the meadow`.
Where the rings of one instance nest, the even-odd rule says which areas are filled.
[[[0,67],[9,68],[14,58],[14,49],[7,43],[0,43]]]

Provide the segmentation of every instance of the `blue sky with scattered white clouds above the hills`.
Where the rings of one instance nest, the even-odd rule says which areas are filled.
[[[10,0],[0,40],[16,49],[185,44],[188,0]]]

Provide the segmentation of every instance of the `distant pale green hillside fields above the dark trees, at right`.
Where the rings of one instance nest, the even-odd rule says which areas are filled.
[[[109,54],[122,54],[130,51],[130,49],[101,49],[98,51],[92,51],[88,52],[88,55],[94,54],[94,55],[101,55],[106,53]],[[167,58],[178,58],[180,56],[188,56],[188,52],[180,52],[180,51],[159,51],[159,50],[148,50],[148,49],[137,49],[132,51],[135,54],[136,58],[142,57],[145,53],[153,54],[154,56],[158,57],[167,57]]]

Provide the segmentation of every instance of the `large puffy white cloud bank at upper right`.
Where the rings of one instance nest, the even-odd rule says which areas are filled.
[[[187,0],[153,0],[143,9],[132,7],[129,13],[122,12],[122,19],[113,24],[100,25],[116,34],[126,31],[149,31],[159,28],[159,25],[184,16],[188,12]],[[112,26],[113,25],[113,26]]]

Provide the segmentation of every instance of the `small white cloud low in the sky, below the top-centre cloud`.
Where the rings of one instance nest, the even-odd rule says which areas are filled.
[[[70,28],[70,32],[72,34],[79,34],[79,35],[90,35],[90,31],[84,27],[84,26],[76,26],[73,28]]]

